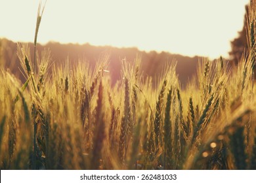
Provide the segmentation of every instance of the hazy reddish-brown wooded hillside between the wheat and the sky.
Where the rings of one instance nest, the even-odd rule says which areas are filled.
[[[0,42],[3,58],[1,65],[11,69],[12,73],[23,80],[24,78],[18,70],[20,65],[16,56],[16,43],[7,39],[0,39]],[[33,54],[32,43],[30,43],[30,47]],[[58,42],[49,42],[44,46],[37,44],[39,53],[43,48],[50,48],[53,60],[57,65],[67,61],[68,58],[70,63],[75,63],[79,59],[89,60],[90,64],[93,66],[100,54],[103,54],[104,52],[109,53],[110,65],[108,69],[110,70],[113,84],[119,78],[121,59],[123,58],[126,58],[127,61],[133,61],[137,55],[141,56],[144,74],[153,77],[160,73],[167,61],[171,62],[177,60],[177,74],[179,75],[179,79],[183,86],[188,81],[188,78],[191,78],[192,75],[196,73],[198,60],[202,59],[197,56],[190,58],[179,54],[169,54],[167,52],[141,52],[137,48],[114,48],[111,46],[91,46],[89,44],[60,44]]]

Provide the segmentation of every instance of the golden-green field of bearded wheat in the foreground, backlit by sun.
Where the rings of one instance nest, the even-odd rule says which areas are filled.
[[[0,71],[0,169],[256,169],[255,0],[249,52],[232,69],[203,59],[186,88],[175,64],[153,83],[139,56],[115,86],[108,54],[54,65],[36,51],[42,14],[35,49],[17,44],[26,82]]]

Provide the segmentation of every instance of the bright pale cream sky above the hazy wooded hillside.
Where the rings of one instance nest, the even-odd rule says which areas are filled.
[[[42,1],[43,4],[45,1]],[[249,0],[48,0],[37,42],[228,57]],[[0,0],[0,38],[33,42],[39,0]]]

